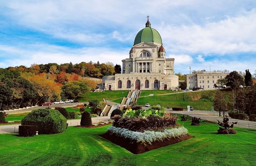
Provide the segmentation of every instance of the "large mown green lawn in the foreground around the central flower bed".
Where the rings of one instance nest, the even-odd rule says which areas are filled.
[[[217,135],[218,125],[190,126],[195,138],[140,155],[130,153],[99,135],[108,126],[69,127],[64,133],[17,137],[0,135],[1,166],[256,166],[256,130],[236,129]]]

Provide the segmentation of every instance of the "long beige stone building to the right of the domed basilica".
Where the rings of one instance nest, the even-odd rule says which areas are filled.
[[[200,87],[205,90],[213,90],[214,84],[228,74],[222,72],[202,72],[198,74],[186,74],[185,82],[187,89]]]

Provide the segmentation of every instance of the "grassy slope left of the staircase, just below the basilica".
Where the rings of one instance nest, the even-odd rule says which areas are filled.
[[[120,99],[126,97],[128,90],[115,90],[115,91],[105,91],[105,92],[87,92],[79,97],[80,102],[88,102],[89,100],[99,100],[102,101],[105,98],[108,100]]]

